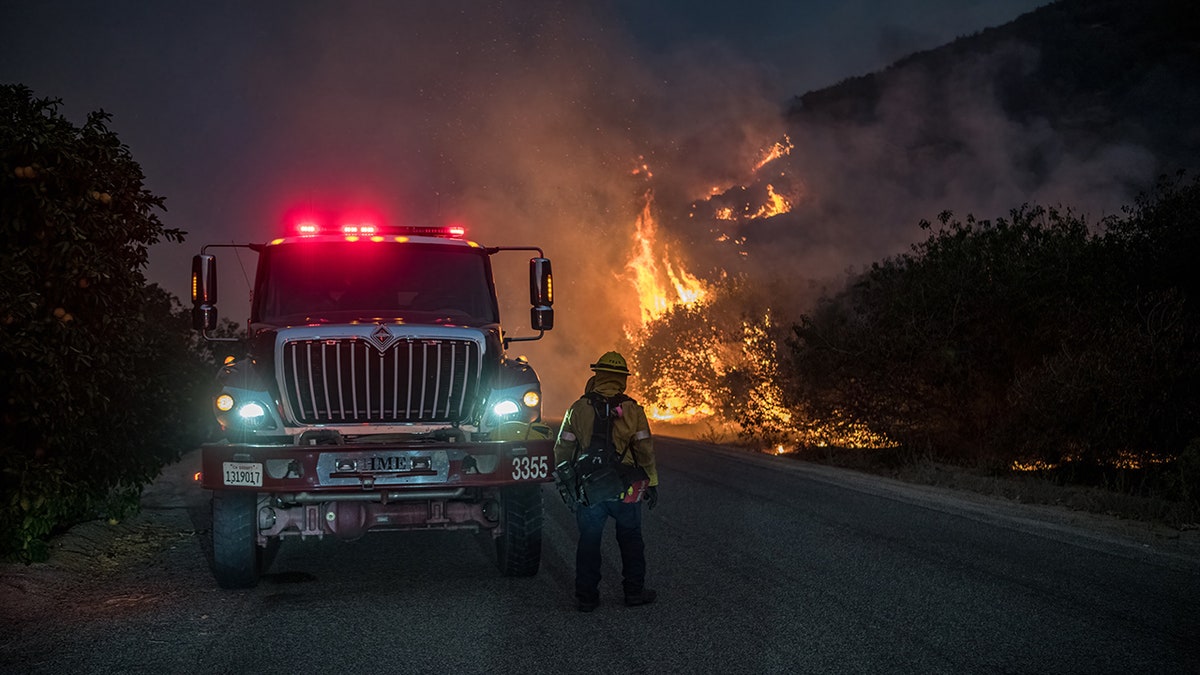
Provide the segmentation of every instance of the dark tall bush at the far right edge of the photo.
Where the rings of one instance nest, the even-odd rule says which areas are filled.
[[[1085,321],[1014,381],[1026,455],[1082,466],[1178,456],[1200,431],[1200,181],[1164,180],[1092,241],[1105,283]]]

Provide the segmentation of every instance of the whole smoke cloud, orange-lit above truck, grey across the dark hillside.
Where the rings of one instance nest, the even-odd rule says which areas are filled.
[[[996,68],[1033,67],[1026,47],[950,77],[906,72],[869,121],[788,124],[764,71],[720,44],[644,59],[604,8],[520,7],[298,4],[276,18],[244,55],[232,104],[251,112],[238,149],[250,178],[226,196],[240,213],[216,240],[270,239],[280,214],[306,204],[541,246],[557,327],[515,352],[541,374],[551,418],[580,393],[587,364],[640,321],[625,265],[648,191],[658,245],[694,274],[770,289],[787,321],[847,269],[922,238],[919,219],[1025,202],[1115,210],[1150,171],[1135,147],[1080,156],[1044,120],[1007,119],[989,83]],[[936,148],[923,144],[931,125]],[[791,154],[756,171],[785,135]],[[768,184],[791,213],[730,222],[697,208],[761,201]],[[528,336],[527,256],[493,259],[505,329]]]

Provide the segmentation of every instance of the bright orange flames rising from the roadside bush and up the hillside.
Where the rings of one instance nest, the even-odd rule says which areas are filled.
[[[790,154],[792,148],[791,139],[785,136],[763,153],[754,172]],[[634,175],[646,179],[653,177],[644,163],[634,171]],[[791,186],[786,183],[784,190],[792,193],[791,197],[776,191],[775,184],[768,184],[766,201],[757,208],[754,208],[749,197],[743,197],[748,193],[745,186],[740,186],[740,191],[734,187],[725,191],[712,187],[712,193],[692,207],[700,203],[712,204],[710,214],[714,220],[734,222],[785,214],[792,209],[793,201],[799,198],[799,187],[794,181]],[[761,191],[749,192],[762,198]],[[732,205],[730,199],[736,199]],[[695,213],[691,215],[695,216]],[[754,411],[751,418],[755,419],[752,424],[756,425],[756,431],[770,432],[775,437],[782,435],[810,446],[828,443],[866,448],[889,443],[852,420],[812,420],[794,413],[779,386],[779,358],[773,338],[776,330],[770,310],[767,309],[756,317],[743,316],[740,330],[730,330],[731,327],[715,323],[724,321],[720,317],[713,318],[712,312],[716,311],[716,301],[722,299],[725,287],[719,283],[709,285],[690,274],[684,262],[672,256],[665,244],[659,243],[658,229],[654,192],[647,189],[634,227],[635,246],[625,264],[626,277],[638,300],[641,323],[626,325],[625,335],[635,351],[654,345],[652,340],[656,339],[660,341],[659,346],[653,348],[662,350],[665,345],[666,351],[673,356],[655,364],[654,372],[641,374],[646,381],[643,386],[654,392],[653,399],[644,400],[647,414],[652,419],[706,424],[710,424],[708,420],[716,420],[721,425],[728,425],[728,420],[721,420],[718,410],[726,407],[726,401],[721,399],[728,392],[726,378],[736,375],[734,380],[750,383],[739,395],[744,399],[742,405]],[[740,246],[745,243],[745,237],[720,233],[718,240]],[[682,313],[672,313],[674,311]],[[668,313],[672,316],[667,317]],[[664,317],[671,321],[684,319],[685,323],[655,324]],[[688,328],[679,335],[664,333],[664,327],[673,329],[676,325]],[[738,424],[745,423],[739,419]],[[779,454],[786,452],[781,443],[774,443],[773,448]]]

